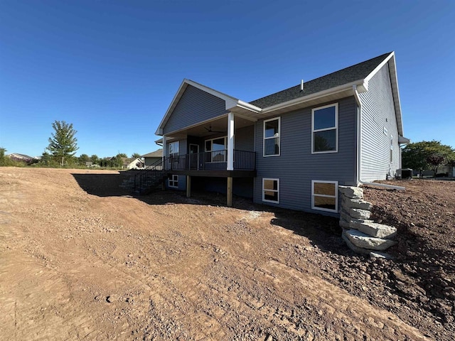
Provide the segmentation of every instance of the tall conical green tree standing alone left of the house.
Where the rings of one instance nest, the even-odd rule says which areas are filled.
[[[72,123],[68,124],[65,121],[54,121],[52,127],[55,132],[52,133],[52,137],[48,140],[49,146],[47,149],[54,158],[58,158],[59,161],[61,158],[63,165],[65,158],[73,158],[75,151],[79,149],[75,138],[77,131],[73,129]]]

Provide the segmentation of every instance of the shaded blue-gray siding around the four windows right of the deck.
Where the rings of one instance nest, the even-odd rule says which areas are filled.
[[[304,211],[312,211],[311,180],[333,180],[338,181],[339,185],[355,184],[357,107],[354,97],[338,100],[337,153],[311,153],[312,108],[280,115],[280,156],[262,156],[264,124],[263,120],[257,121],[255,202],[262,202],[262,178],[279,178],[279,204],[264,204]],[[316,210],[312,212],[330,214]]]

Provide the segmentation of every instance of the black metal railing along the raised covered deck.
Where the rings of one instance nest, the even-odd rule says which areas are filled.
[[[234,150],[234,170],[254,171],[256,153]],[[205,151],[166,158],[166,171],[225,171],[228,168],[228,150]]]

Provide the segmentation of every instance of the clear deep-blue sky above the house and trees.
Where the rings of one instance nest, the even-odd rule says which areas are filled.
[[[392,50],[405,136],[455,147],[453,0],[0,0],[0,146],[148,153],[183,78],[251,101]]]

